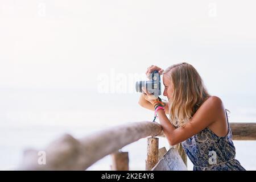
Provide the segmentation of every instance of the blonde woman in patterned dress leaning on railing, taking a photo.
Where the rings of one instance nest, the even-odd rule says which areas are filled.
[[[151,65],[146,75],[154,70],[163,74],[163,95],[168,102],[159,101],[143,88],[139,104],[156,111],[170,145],[181,142],[193,170],[245,170],[235,159],[226,109],[220,98],[209,95],[196,69],[188,63],[165,71]]]

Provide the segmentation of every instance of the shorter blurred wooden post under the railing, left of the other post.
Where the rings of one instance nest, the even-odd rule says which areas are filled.
[[[129,171],[128,152],[117,151],[112,154],[112,171]]]

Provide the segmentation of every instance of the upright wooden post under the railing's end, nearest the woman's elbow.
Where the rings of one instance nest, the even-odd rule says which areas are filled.
[[[150,171],[158,163],[158,138],[147,138],[146,171]]]

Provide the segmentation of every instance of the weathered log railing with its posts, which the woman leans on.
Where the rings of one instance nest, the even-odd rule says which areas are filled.
[[[256,123],[230,123],[234,140],[256,140]],[[112,155],[112,170],[129,170],[127,152],[118,150],[141,138],[147,138],[146,170],[184,170],[187,156],[180,146],[159,150],[162,127],[154,122],[133,122],[76,139],[65,134],[42,150],[46,163],[40,163],[40,152],[27,150],[18,170],[85,170],[106,155]],[[160,153],[159,153],[160,152]],[[166,155],[164,155],[166,153]],[[168,154],[168,155],[167,155]],[[180,157],[182,156],[182,159]]]

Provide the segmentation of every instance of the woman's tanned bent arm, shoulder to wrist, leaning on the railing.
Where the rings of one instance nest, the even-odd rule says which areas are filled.
[[[177,129],[171,124],[162,109],[158,110],[158,116],[169,144],[174,146],[216,122],[223,109],[220,98],[212,96],[199,107],[188,123]]]

